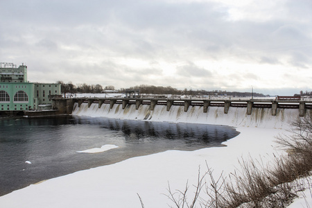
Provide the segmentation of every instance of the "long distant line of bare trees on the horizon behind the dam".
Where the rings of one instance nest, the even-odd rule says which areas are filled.
[[[87,85],[86,83],[73,85],[73,83],[63,83],[58,81],[61,84],[62,93],[71,92],[71,93],[102,93],[105,90],[117,91],[119,93],[124,93],[128,89],[115,89],[114,86],[108,85],[103,87],[102,85]],[[255,96],[255,97],[266,97],[269,95],[259,94],[257,92],[227,92],[222,90],[213,90],[207,91],[204,89],[191,90],[185,88],[184,90],[176,89],[171,86],[154,86],[154,85],[137,85],[135,87],[129,87],[129,89],[139,89],[140,94],[172,94],[172,95],[189,95],[189,96]]]

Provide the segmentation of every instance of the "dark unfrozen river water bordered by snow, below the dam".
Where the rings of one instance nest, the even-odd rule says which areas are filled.
[[[0,196],[42,180],[166,150],[221,146],[223,125],[56,116],[0,119]],[[114,144],[103,153],[77,151]],[[31,162],[31,164],[26,163]]]

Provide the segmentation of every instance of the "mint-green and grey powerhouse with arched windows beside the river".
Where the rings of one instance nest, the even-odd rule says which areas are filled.
[[[0,111],[47,110],[61,94],[56,83],[29,83],[27,66],[0,62]]]

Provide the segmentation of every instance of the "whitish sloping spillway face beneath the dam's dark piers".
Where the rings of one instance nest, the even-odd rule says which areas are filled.
[[[311,110],[306,110],[306,114]],[[150,110],[150,105],[140,105],[136,110],[135,105],[127,105],[122,109],[121,104],[115,104],[110,109],[109,104],[98,107],[98,103],[92,103],[88,107],[87,103],[74,104],[73,115],[78,116],[103,116],[114,119],[131,119],[145,121],[167,121],[185,123],[206,123],[216,125],[259,127],[259,128],[288,128],[289,123],[299,117],[298,109],[277,109],[277,115],[272,116],[271,108],[253,108],[252,114],[248,115],[245,107],[229,107],[227,114],[224,107],[209,106],[207,113],[203,112],[202,106],[190,106],[184,112],[184,106],[171,106],[166,111],[165,105],[156,105],[154,110]]]

